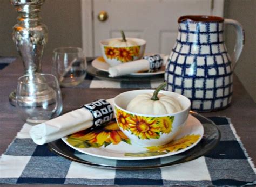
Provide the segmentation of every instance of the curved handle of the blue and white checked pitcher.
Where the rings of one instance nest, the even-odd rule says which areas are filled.
[[[237,34],[237,41],[235,42],[234,51],[231,56],[232,67],[234,68],[235,64],[237,64],[239,56],[241,55],[242,52],[242,48],[244,47],[245,44],[245,32],[244,29],[242,28],[242,25],[236,20],[224,19],[224,24],[233,25],[235,28],[235,33]]]

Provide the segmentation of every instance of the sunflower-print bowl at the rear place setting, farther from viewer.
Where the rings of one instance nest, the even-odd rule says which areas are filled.
[[[138,45],[130,47],[113,47],[108,45],[109,41],[112,39],[117,38],[100,41],[100,49],[103,58],[110,66],[117,66],[122,63],[139,60],[143,57],[146,48],[145,40],[139,38],[127,38],[133,40]]]

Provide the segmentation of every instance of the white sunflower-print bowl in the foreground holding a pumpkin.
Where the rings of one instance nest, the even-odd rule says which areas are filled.
[[[161,146],[174,139],[185,126],[191,107],[188,98],[170,91],[160,91],[175,98],[182,110],[164,115],[139,114],[126,110],[129,102],[143,93],[154,90],[133,90],[120,93],[114,98],[114,115],[120,130],[133,142],[141,146]]]

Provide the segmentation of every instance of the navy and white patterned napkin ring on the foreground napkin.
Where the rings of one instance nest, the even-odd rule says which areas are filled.
[[[113,118],[113,107],[104,99],[83,105],[93,116],[93,127],[98,127]]]

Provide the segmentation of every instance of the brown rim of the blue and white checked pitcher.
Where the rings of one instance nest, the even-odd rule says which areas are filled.
[[[185,15],[178,19],[178,23],[186,20],[191,20],[195,22],[223,22],[224,18],[219,16],[206,16],[206,15]]]

